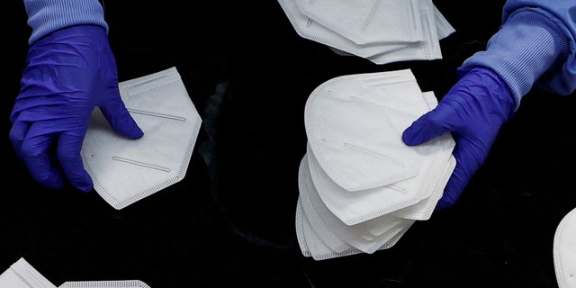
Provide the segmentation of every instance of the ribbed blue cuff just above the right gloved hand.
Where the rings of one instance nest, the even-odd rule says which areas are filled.
[[[490,68],[509,86],[518,109],[532,86],[559,69],[568,56],[569,38],[550,18],[537,9],[510,14],[486,50],[466,59],[462,68]],[[560,92],[565,87],[554,90]]]

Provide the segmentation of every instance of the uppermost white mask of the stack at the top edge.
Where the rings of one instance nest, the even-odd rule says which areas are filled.
[[[356,44],[423,39],[419,0],[295,0],[311,20]]]

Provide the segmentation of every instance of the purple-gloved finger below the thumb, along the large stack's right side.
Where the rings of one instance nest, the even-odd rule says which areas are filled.
[[[455,169],[446,183],[442,198],[438,200],[436,210],[442,210],[455,204],[464,192],[472,176],[481,166],[483,159],[475,157],[471,151],[475,150],[473,142],[468,139],[460,138],[456,141],[456,146],[452,154],[456,158]]]

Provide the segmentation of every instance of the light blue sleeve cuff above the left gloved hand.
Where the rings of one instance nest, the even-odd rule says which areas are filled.
[[[108,32],[103,7],[97,0],[24,0],[24,6],[32,29],[29,44],[50,32],[78,24],[99,25]]]

